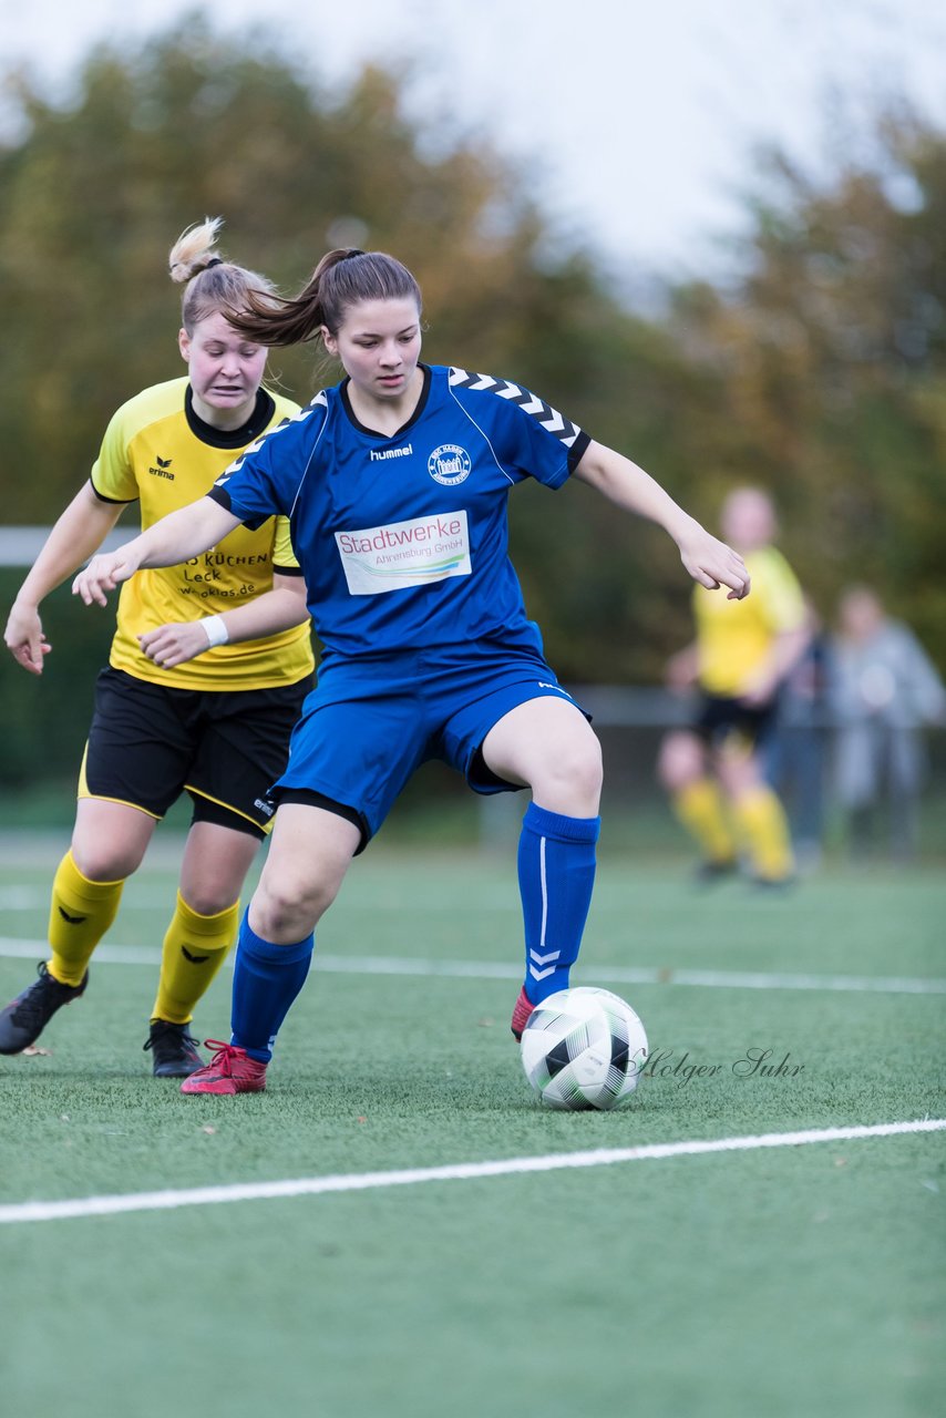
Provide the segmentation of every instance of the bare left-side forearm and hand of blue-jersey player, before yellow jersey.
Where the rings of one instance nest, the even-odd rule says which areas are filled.
[[[72,594],[87,605],[105,605],[108,591],[126,581],[143,567],[177,566],[191,556],[200,556],[216,546],[240,518],[227,512],[211,498],[200,498],[177,512],[169,513],[118,552],[94,556],[72,581]]]

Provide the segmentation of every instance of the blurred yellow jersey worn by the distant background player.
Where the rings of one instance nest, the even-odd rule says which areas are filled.
[[[766,546],[745,562],[752,577],[745,600],[726,600],[725,588],[694,588],[698,679],[711,695],[738,698],[773,641],[804,624],[801,587],[781,553]]]

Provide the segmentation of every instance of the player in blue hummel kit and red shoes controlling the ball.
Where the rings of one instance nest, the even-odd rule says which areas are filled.
[[[478,793],[528,787],[519,841],[525,983],[569,984],[591,900],[601,754],[543,658],[508,557],[506,499],[570,476],[660,523],[702,586],[749,590],[742,559],[641,468],[518,384],[420,363],[421,296],[382,252],[332,251],[294,301],[233,323],[261,345],[322,339],[346,377],[238,458],[208,496],[77,577],[87,604],[139,567],[197,556],[238,523],[289,518],[325,649],[275,784],[279,804],[240,932],[233,1039],[187,1093],[258,1092],[305,981],[313,929],[352,858],[427,759]]]

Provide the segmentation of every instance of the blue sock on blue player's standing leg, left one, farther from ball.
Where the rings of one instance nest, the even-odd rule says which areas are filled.
[[[231,1042],[250,1058],[268,1064],[279,1025],[305,984],[312,961],[313,937],[292,946],[261,940],[244,913],[233,971]]]

